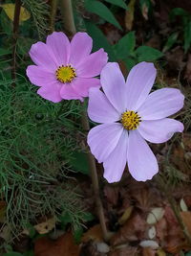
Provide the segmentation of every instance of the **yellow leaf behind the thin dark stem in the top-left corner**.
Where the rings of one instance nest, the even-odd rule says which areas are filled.
[[[0,5],[0,7],[3,8],[3,10],[9,16],[9,18],[13,21],[15,4],[4,4],[4,5]],[[30,18],[31,18],[30,12],[28,12],[24,7],[21,7],[19,22],[26,21]]]

